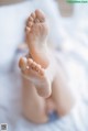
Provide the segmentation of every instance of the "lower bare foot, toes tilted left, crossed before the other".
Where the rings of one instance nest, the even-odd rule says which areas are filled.
[[[50,97],[52,92],[51,83],[45,74],[45,69],[33,62],[32,58],[26,59],[25,57],[20,58],[19,66],[23,75],[34,83],[37,94],[44,98]]]

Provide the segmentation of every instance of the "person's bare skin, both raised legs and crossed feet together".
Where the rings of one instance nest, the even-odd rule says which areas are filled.
[[[48,121],[48,111],[63,117],[74,107],[66,75],[53,50],[47,46],[48,24],[45,14],[36,10],[25,26],[29,57],[21,57],[19,66],[23,79],[23,113],[34,123]]]

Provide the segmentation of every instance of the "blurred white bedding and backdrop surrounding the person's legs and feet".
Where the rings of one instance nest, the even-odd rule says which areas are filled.
[[[42,9],[50,21],[48,41],[65,57],[70,88],[80,101],[74,113],[43,125],[22,117],[18,67],[25,21],[35,9]],[[88,3],[0,0],[0,123],[8,123],[10,131],[88,130]]]

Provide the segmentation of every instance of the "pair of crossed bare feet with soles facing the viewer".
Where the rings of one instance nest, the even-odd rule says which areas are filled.
[[[46,75],[50,65],[47,50],[48,25],[44,13],[36,10],[26,21],[25,37],[32,58],[21,57],[19,66],[22,74],[31,79],[40,96],[51,95],[51,81]]]

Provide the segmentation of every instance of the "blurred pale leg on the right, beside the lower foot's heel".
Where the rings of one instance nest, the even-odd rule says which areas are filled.
[[[52,98],[56,105],[56,110],[59,117],[69,113],[74,107],[75,99],[68,87],[66,75],[58,65],[58,75],[53,81]]]

